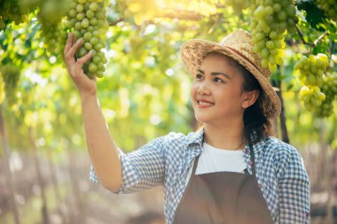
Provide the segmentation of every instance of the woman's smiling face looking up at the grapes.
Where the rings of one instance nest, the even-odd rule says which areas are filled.
[[[191,97],[195,118],[204,124],[242,119],[245,94],[239,68],[223,55],[209,54],[194,76]]]

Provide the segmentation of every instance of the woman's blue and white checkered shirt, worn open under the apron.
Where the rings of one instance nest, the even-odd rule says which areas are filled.
[[[177,205],[184,194],[193,159],[202,151],[204,130],[189,135],[169,133],[137,151],[121,153],[121,194],[164,186],[164,213],[173,223]],[[254,145],[256,178],[275,223],[310,223],[310,179],[302,157],[289,144],[267,137]],[[242,155],[252,174],[249,146]],[[91,166],[90,180],[98,182]]]

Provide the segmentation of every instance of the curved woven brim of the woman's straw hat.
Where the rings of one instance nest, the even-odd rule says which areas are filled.
[[[219,43],[200,39],[184,42],[180,49],[180,56],[187,71],[194,76],[200,68],[203,58],[205,58],[209,52],[219,52],[233,58],[239,62],[240,65],[246,67],[247,70],[254,75],[256,80],[259,81],[261,88],[263,89],[263,114],[267,119],[278,117],[281,112],[281,103],[278,94],[270,85],[270,82],[263,76],[263,73],[261,73],[246,57],[239,55],[234,50],[231,50],[231,48]]]

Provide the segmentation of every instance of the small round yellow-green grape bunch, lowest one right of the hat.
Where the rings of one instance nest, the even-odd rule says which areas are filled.
[[[317,86],[302,86],[300,100],[308,110],[312,111],[322,104],[325,94]]]

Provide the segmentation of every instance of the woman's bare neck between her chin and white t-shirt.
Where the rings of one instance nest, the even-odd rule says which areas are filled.
[[[245,147],[245,143],[242,141],[244,130],[243,121],[229,122],[222,126],[205,124],[204,130],[205,143],[213,147],[230,151],[241,150]]]

